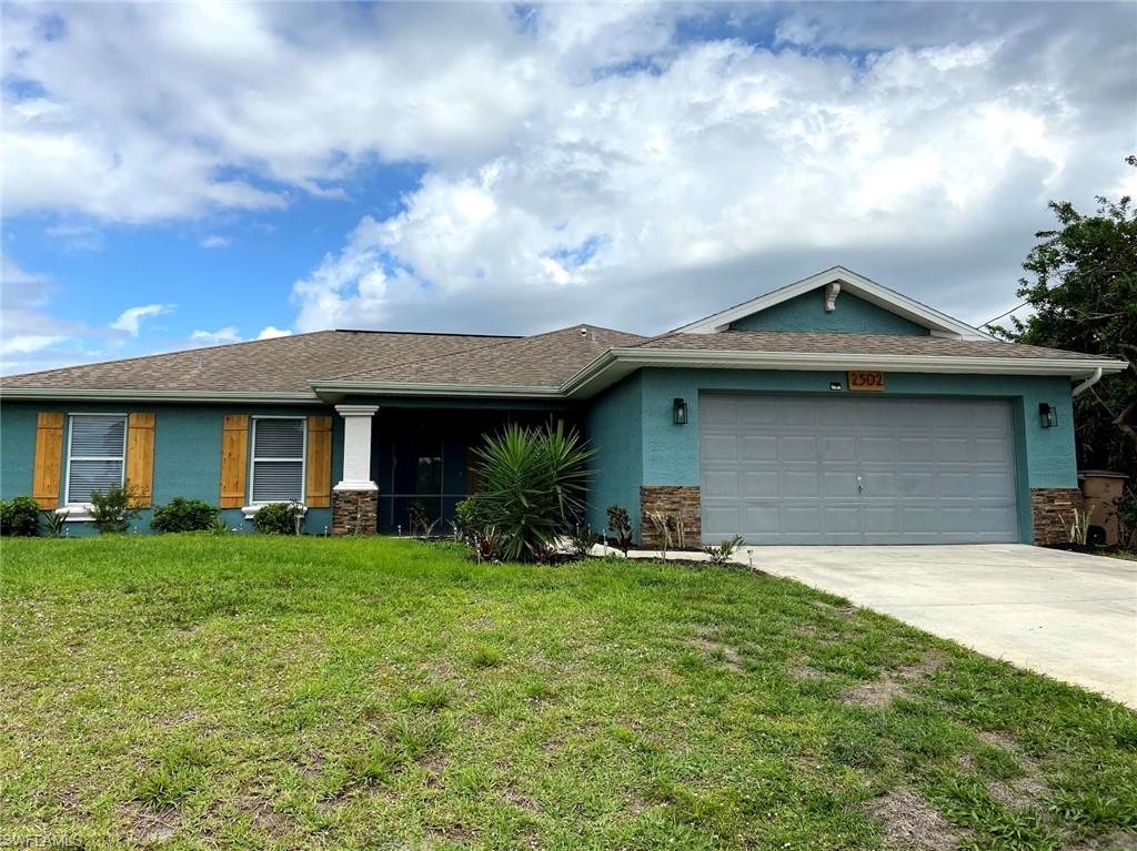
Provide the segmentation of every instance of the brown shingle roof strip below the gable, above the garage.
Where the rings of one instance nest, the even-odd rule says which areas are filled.
[[[1039,345],[997,340],[955,340],[940,336],[887,334],[814,334],[789,331],[724,331],[720,334],[670,333],[652,337],[637,348],[733,352],[802,352],[819,354],[912,354],[956,358],[1067,358],[1101,360]]]

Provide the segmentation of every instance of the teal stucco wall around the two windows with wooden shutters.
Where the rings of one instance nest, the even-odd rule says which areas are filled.
[[[35,419],[41,410],[61,410],[65,414],[128,414],[131,411],[155,412],[153,439],[153,495],[155,506],[161,506],[174,497],[200,499],[211,506],[217,504],[221,490],[221,433],[222,419],[226,414],[315,416],[333,415],[332,418],[332,483],[341,477],[343,469],[343,425],[331,408],[316,406],[298,407],[241,407],[236,404],[123,404],[69,402],[3,402],[0,404],[0,498],[11,499],[30,495],[35,457]],[[64,452],[67,434],[64,433]],[[63,478],[66,479],[66,461]],[[60,482],[60,501],[66,481]],[[153,511],[140,511],[134,525],[139,532],[149,531]],[[252,524],[238,509],[222,511],[229,528],[252,531]],[[331,509],[314,508],[305,519],[305,531],[322,534],[331,526]],[[94,529],[90,523],[68,523],[68,534],[90,534]]]

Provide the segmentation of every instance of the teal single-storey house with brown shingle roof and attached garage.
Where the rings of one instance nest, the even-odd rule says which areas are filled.
[[[836,267],[677,331],[322,331],[11,376],[0,495],[89,527],[100,487],[229,526],[297,499],[308,532],[453,516],[472,451],[549,417],[596,450],[588,520],[619,503],[688,541],[1054,542],[1079,504],[1071,398],[1120,360],[999,342]]]

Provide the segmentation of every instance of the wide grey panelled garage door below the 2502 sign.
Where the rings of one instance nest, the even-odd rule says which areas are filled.
[[[1004,400],[703,394],[703,539],[1019,540]]]

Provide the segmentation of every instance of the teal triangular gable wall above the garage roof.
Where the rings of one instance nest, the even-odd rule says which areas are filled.
[[[923,325],[891,314],[850,293],[837,297],[825,312],[825,287],[802,293],[780,304],[731,323],[733,331],[813,331],[827,334],[905,334],[928,336]]]

